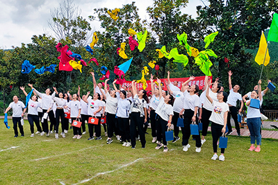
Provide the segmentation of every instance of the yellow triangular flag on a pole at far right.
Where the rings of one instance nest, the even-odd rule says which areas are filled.
[[[263,31],[261,32],[261,40],[260,40],[260,46],[259,51],[256,53],[255,62],[257,62],[259,65],[263,64],[263,60],[265,58],[265,66],[270,62],[270,55],[268,53],[268,50],[266,49],[268,44],[266,43],[265,35],[263,34]],[[266,51],[266,55],[265,55]]]

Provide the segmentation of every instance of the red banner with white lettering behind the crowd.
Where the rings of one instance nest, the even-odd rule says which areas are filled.
[[[204,87],[204,78],[206,76],[196,76],[195,80],[192,80],[191,82],[188,83],[188,85],[198,85],[199,89],[201,90]],[[213,76],[210,77],[211,79],[213,78]],[[181,89],[181,85],[183,84],[183,82],[186,82],[189,79],[189,77],[187,78],[170,78],[170,81],[173,83],[174,81],[178,82],[177,87],[179,87],[179,89]],[[164,83],[165,85],[165,80],[167,80],[167,78],[161,78],[161,82]],[[156,80],[154,80],[156,81]],[[123,83],[122,86],[126,85],[127,87],[131,87],[131,81],[126,81]],[[154,85],[154,87],[156,88],[156,84]],[[138,88],[142,89],[142,83],[138,84]],[[152,91],[152,87],[151,87],[151,81],[147,80],[147,88],[145,89],[146,91]],[[167,87],[166,85],[164,86],[163,90],[167,91]]]

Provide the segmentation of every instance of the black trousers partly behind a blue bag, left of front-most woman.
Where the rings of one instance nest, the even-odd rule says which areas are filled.
[[[188,145],[188,139],[190,138],[190,124],[192,122],[192,117],[194,115],[194,111],[191,109],[185,109],[183,113],[183,123],[184,127],[181,127],[181,132],[183,133],[183,141],[182,145]],[[196,124],[198,124],[198,118],[196,116]],[[198,131],[199,132],[199,131]],[[201,147],[201,137],[200,135],[193,135],[193,139],[196,141],[196,147]]]

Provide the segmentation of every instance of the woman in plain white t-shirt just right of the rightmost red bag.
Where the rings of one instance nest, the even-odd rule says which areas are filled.
[[[106,99],[106,123],[107,123],[107,131],[108,131],[108,139],[107,144],[113,142],[112,136],[113,132],[118,135],[116,130],[116,109],[117,109],[117,96],[116,91],[111,90],[110,93],[107,90],[107,82],[110,79],[105,80],[104,90],[105,94],[101,91],[102,96]]]

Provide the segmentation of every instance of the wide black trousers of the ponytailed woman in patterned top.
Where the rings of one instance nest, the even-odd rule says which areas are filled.
[[[140,112],[132,112],[130,117],[131,117],[131,124],[130,124],[131,146],[132,147],[136,146],[136,136],[137,136],[136,133],[138,129],[141,145],[145,147],[146,139],[145,139],[145,130],[143,129],[145,116],[140,117]]]

